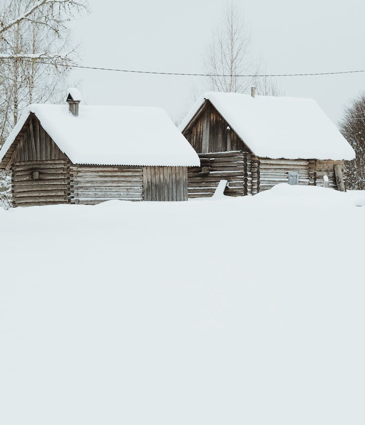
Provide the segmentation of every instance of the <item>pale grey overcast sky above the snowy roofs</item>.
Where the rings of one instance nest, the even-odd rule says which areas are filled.
[[[225,0],[89,0],[91,14],[74,24],[82,65],[202,73]],[[365,1],[237,1],[256,60],[273,74],[365,69]],[[178,117],[200,77],[73,71],[88,104],[161,106]],[[365,89],[365,73],[280,77],[286,96],[313,97],[337,123],[344,105]]]

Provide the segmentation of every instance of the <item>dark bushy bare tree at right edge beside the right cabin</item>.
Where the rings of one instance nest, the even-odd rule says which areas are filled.
[[[365,93],[345,108],[340,130],[356,154],[352,161],[345,161],[347,188],[365,190]]]

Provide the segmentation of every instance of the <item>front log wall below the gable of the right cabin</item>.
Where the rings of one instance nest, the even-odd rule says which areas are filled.
[[[228,180],[224,193],[231,196],[251,194],[251,154],[219,152],[199,154],[200,167],[188,169],[189,198],[212,196],[220,180]]]

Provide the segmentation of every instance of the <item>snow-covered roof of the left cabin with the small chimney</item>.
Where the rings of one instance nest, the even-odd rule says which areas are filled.
[[[0,150],[0,162],[30,113],[74,164],[199,166],[199,157],[161,108],[68,105],[27,107]]]

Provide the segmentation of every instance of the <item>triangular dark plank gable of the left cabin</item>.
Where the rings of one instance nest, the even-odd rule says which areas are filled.
[[[19,161],[68,159],[43,129],[37,116],[30,114],[0,166],[10,168]]]

